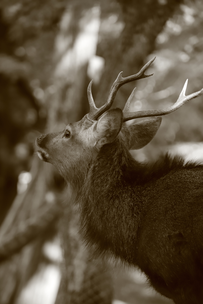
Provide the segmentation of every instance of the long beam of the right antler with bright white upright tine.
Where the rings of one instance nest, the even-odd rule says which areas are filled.
[[[128,110],[128,111],[124,112],[123,122],[131,120],[131,119],[135,119],[135,118],[161,116],[161,115],[169,114],[169,113],[177,110],[178,108],[180,108],[181,105],[183,105],[185,102],[188,102],[191,99],[194,99],[198,96],[203,95],[203,88],[202,88],[198,92],[185,96],[185,91],[187,88],[187,80],[184,84],[182,92],[180,93],[180,96],[177,99],[177,102],[175,102],[174,105],[172,105],[171,107],[168,107],[166,109],[161,109],[161,110],[146,110],[146,111],[137,111],[137,112],[129,112],[129,110]]]

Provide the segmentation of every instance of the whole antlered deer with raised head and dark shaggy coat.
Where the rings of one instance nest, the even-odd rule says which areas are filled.
[[[107,102],[64,130],[36,140],[38,156],[53,164],[75,193],[80,233],[95,254],[138,268],[157,292],[176,304],[203,303],[203,164],[168,153],[154,163],[136,161],[129,150],[147,145],[162,118],[203,94],[185,95],[166,109],[110,109],[118,89],[147,78],[150,60],[135,75],[114,81]],[[123,125],[135,118],[147,119]]]

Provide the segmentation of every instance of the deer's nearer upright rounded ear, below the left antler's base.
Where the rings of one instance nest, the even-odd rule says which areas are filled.
[[[111,143],[120,132],[122,123],[123,112],[119,108],[103,114],[94,128],[95,147],[100,148],[106,143]]]

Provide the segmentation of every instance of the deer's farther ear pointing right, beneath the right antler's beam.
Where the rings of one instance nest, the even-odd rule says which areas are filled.
[[[159,129],[162,118],[152,117],[131,126],[123,126],[122,137],[128,150],[137,150],[146,146]]]

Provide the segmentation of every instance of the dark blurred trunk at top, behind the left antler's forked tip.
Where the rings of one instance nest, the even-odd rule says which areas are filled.
[[[98,105],[107,99],[111,84],[120,71],[123,71],[123,75],[127,76],[134,74],[138,68],[143,66],[146,56],[155,48],[156,36],[162,31],[165,22],[173,15],[182,1],[146,0],[141,2],[134,0],[118,2],[121,4],[120,9],[123,13],[120,15],[117,11],[116,14],[109,14],[107,11],[109,16],[106,16],[106,20],[104,20],[109,23],[109,28],[112,28],[112,23],[117,24],[118,31],[114,30],[111,33],[109,31],[106,35],[103,34],[105,39],[99,40],[97,46],[97,54],[105,59],[103,80],[96,95],[96,104]],[[107,25],[101,26],[103,31],[107,28]],[[124,106],[125,95],[128,94],[130,88],[133,88],[131,83],[120,88],[114,105]]]

